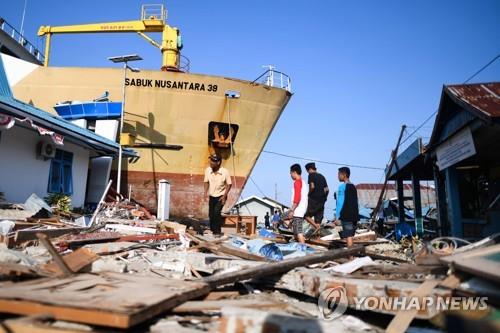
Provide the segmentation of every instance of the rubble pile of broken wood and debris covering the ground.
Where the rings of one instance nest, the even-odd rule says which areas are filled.
[[[58,214],[36,196],[3,203],[0,330],[498,329],[490,320],[500,300],[495,235],[476,243],[395,243],[358,230],[354,246],[345,248],[331,225],[306,244],[280,230],[231,228],[221,238],[200,235],[189,223],[156,220],[128,200],[104,202],[87,217]],[[390,298],[464,296],[484,306],[383,306]]]

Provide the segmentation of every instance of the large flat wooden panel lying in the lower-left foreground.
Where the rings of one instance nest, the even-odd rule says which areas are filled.
[[[119,273],[12,283],[0,289],[0,312],[46,313],[68,320],[129,328],[208,294],[203,282]]]

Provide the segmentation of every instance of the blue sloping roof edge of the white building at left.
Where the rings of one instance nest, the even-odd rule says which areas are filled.
[[[101,152],[106,155],[116,155],[120,148],[120,145],[115,141],[106,139],[88,129],[82,128],[58,116],[15,99],[10,89],[1,57],[0,110],[2,113],[9,116],[29,118],[36,125],[61,134],[69,139],[69,141],[87,146],[96,152]],[[138,153],[132,149],[123,149],[123,154],[128,157],[138,157]]]

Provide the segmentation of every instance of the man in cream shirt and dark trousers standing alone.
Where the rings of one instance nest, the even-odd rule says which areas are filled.
[[[222,235],[222,207],[226,203],[232,182],[229,171],[221,166],[220,155],[212,154],[209,160],[210,166],[205,169],[205,198],[208,197],[210,230],[214,236],[220,237]]]

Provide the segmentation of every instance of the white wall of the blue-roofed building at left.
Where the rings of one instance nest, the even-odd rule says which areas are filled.
[[[40,141],[51,141],[50,137],[19,126],[0,134],[0,192],[13,203],[24,203],[35,193],[40,198],[47,196],[50,160],[36,158],[36,146]],[[89,163],[89,151],[71,143],[59,149],[73,153],[73,207],[85,202],[85,188]]]

